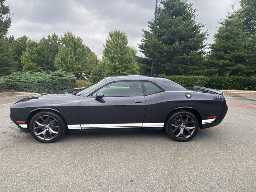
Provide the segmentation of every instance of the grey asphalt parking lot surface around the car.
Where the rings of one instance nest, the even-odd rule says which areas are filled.
[[[164,132],[66,134],[42,144],[0,96],[0,191],[255,191],[256,94],[225,94],[228,113],[190,142]]]

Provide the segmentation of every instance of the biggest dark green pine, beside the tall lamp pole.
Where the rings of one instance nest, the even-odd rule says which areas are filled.
[[[156,27],[152,20],[149,30],[142,30],[140,52],[153,62],[155,74],[187,74],[202,60],[207,32],[201,31],[204,25],[196,22],[196,9],[187,0],[160,3]]]

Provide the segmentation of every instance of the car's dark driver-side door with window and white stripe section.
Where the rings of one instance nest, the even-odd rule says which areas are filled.
[[[104,98],[96,100],[102,92]],[[111,82],[79,105],[82,129],[127,129],[141,128],[146,102],[140,81]]]

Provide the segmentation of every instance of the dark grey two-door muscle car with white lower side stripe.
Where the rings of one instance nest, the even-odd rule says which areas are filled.
[[[222,122],[228,107],[220,90],[184,88],[166,78],[108,77],[78,90],[40,93],[10,107],[23,132],[44,143],[70,132],[166,130],[176,141]]]

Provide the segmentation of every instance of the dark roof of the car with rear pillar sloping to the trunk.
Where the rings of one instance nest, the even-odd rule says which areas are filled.
[[[138,80],[138,81],[151,81],[163,88],[166,91],[170,90],[187,90],[181,85],[163,78],[163,77],[153,77],[153,76],[143,76],[143,75],[128,75],[128,76],[113,76],[105,78],[107,82],[113,81],[125,81],[125,80]]]

